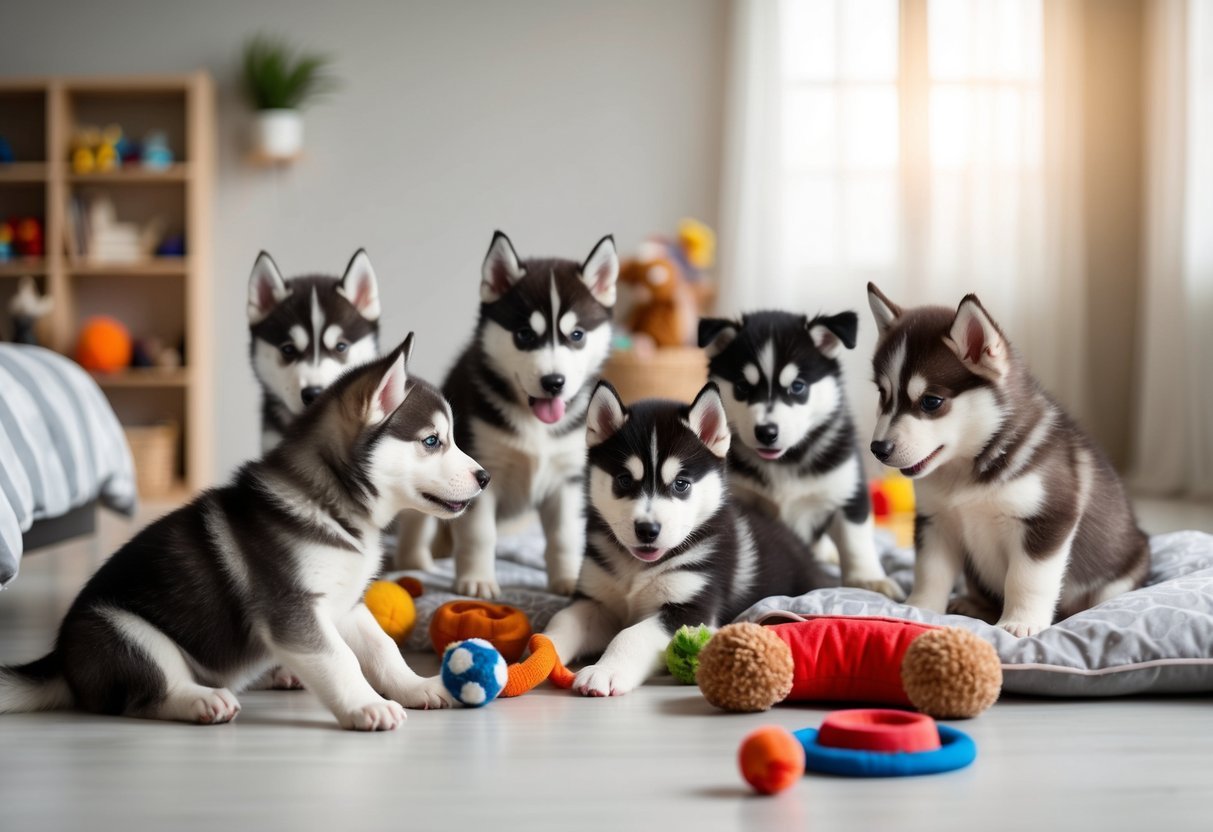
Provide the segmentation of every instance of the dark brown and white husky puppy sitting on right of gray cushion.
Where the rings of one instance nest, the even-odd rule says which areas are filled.
[[[902,309],[875,285],[872,454],[915,479],[913,592],[1032,636],[1141,586],[1150,548],[1116,472],[1041,389],[976,295]]]

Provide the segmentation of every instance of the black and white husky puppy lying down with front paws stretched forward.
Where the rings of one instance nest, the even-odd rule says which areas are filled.
[[[661,666],[683,625],[718,627],[773,594],[814,588],[808,548],[729,496],[729,426],[716,384],[691,405],[625,408],[606,382],[590,403],[586,559],[573,603],[547,627],[587,696],[619,696]]]

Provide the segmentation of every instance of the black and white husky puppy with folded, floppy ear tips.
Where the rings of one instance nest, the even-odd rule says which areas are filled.
[[[811,319],[754,312],[741,320],[701,320],[699,343],[708,354],[708,377],[725,392],[738,498],[791,526],[819,560],[832,560],[837,548],[843,585],[900,600],[876,552],[838,364],[843,347],[855,347],[858,326],[854,312]]]

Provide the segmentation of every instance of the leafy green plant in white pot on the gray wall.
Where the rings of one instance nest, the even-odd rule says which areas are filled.
[[[307,104],[336,89],[325,55],[300,52],[286,41],[256,35],[244,46],[244,87],[257,110],[254,143],[257,155],[290,160],[303,147]]]

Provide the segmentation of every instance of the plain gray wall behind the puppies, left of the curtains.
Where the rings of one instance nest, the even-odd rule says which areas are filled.
[[[258,250],[292,274],[365,246],[385,344],[416,330],[415,367],[437,380],[471,330],[494,228],[523,255],[580,258],[606,232],[626,251],[683,216],[716,222],[725,25],[725,0],[5,4],[0,75],[205,67],[218,81],[223,477],[257,448],[244,294]],[[344,79],[281,172],[244,164],[234,79],[260,30],[331,51]]]

